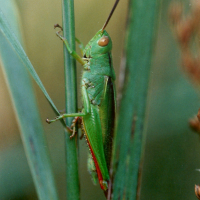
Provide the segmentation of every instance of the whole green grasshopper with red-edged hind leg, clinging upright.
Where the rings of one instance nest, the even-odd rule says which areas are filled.
[[[105,28],[118,2],[119,0],[116,0],[103,28],[95,34],[84,49],[82,48],[82,58],[70,49],[67,40],[59,34],[60,31],[57,32],[57,36],[64,42],[69,53],[83,65],[81,91],[84,107],[80,113],[63,114],[54,120],[47,119],[47,122],[51,123],[66,117],[75,117],[72,136],[75,134],[76,122],[79,119],[82,121],[91,152],[89,170],[94,179],[97,174],[99,184],[104,191],[108,190],[110,181],[109,168],[116,110],[112,41]],[[55,27],[60,26],[57,24]],[[80,43],[79,40],[77,42]]]

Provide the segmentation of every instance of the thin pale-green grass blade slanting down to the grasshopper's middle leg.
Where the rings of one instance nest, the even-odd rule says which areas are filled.
[[[42,92],[44,93],[45,97],[47,98],[47,100],[49,101],[50,105],[52,106],[54,112],[57,115],[59,115],[58,109],[56,108],[56,106],[54,105],[54,103],[51,100],[50,96],[48,95],[48,93],[47,93],[46,89],[44,88],[40,78],[38,77],[35,69],[33,68],[29,58],[27,57],[25,51],[23,50],[23,47],[21,46],[21,44],[18,41],[18,39],[16,38],[15,34],[11,30],[11,28],[9,27],[9,24],[8,24],[6,18],[3,15],[1,10],[0,10],[0,31],[2,32],[4,37],[7,39],[7,41],[10,42],[10,44],[11,44],[12,48],[14,49],[14,51],[16,52],[16,54],[19,56],[19,58],[21,59],[23,64],[26,66],[28,71],[31,73],[32,77],[34,78],[36,83],[39,85],[40,89],[42,90]]]

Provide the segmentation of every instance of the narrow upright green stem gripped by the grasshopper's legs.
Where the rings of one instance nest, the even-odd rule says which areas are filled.
[[[63,35],[68,40],[72,50],[75,50],[75,28],[74,28],[74,2],[63,0]],[[64,46],[64,67],[65,67],[65,92],[66,92],[66,113],[77,111],[76,96],[76,62]],[[71,125],[73,118],[66,118],[66,124]],[[78,160],[75,138],[70,139],[70,134],[65,131],[66,148],[66,176],[67,176],[67,199],[79,199],[79,178]]]

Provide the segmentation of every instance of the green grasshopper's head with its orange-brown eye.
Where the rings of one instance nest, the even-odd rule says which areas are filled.
[[[108,33],[102,29],[89,41],[84,49],[84,57],[92,58],[106,54],[112,50],[112,41]]]

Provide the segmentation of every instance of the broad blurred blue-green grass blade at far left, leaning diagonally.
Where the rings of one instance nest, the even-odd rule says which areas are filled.
[[[5,5],[5,1],[3,3]],[[19,21],[16,20],[16,7],[11,4],[11,1],[6,1],[6,3],[9,9],[7,10],[4,7],[4,12],[7,18],[12,22],[12,27],[16,35],[18,35],[19,40],[21,40]],[[1,2],[0,5],[2,6]],[[13,13],[15,14],[13,15]],[[24,68],[22,59],[19,57],[19,55],[21,55],[20,51],[23,51],[23,49],[18,50],[19,55],[16,54],[15,48],[22,47],[19,42],[15,41],[12,41],[15,48],[11,46],[12,42],[9,42],[9,37],[14,37],[15,40],[16,37],[11,35],[10,28],[8,28],[8,23],[5,21],[2,12],[0,12],[0,17],[0,55],[2,68],[12,96],[12,102],[21,130],[21,137],[38,199],[58,200],[49,151],[46,148],[47,144],[34,96],[34,90],[28,71]],[[12,17],[14,17],[14,19]]]

